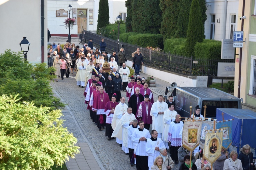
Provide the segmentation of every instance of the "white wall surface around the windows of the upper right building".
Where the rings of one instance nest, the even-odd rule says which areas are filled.
[[[223,37],[230,38],[230,23],[231,14],[236,14],[236,30],[237,30],[237,18],[238,18],[238,3],[239,0],[227,0],[227,20],[226,20],[226,31],[223,31],[224,27],[224,16],[225,16],[225,0],[206,0],[207,20],[204,23],[204,34],[206,39],[210,39],[211,33],[211,14],[215,14],[215,40],[222,40]],[[217,19],[220,22],[217,23]]]

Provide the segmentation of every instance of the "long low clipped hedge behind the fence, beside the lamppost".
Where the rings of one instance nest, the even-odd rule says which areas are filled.
[[[125,43],[133,44],[141,47],[159,47],[163,48],[162,34],[139,34],[139,33],[125,33],[120,40]]]

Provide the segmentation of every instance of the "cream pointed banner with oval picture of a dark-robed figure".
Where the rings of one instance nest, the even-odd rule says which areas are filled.
[[[204,158],[213,164],[221,156],[223,132],[208,133],[205,136]]]

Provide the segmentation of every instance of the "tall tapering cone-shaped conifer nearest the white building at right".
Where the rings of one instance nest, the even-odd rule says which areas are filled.
[[[204,39],[204,27],[202,23],[201,7],[198,0],[193,0],[190,7],[189,22],[186,39],[186,55],[194,55],[194,47],[197,42]]]

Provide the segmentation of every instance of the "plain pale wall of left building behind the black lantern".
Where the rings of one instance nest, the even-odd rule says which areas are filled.
[[[44,0],[44,46],[47,48],[47,0]],[[27,37],[30,43],[27,54],[30,63],[41,63],[41,1],[9,0],[0,5],[1,41],[0,53],[5,49],[21,51],[20,41]],[[47,61],[47,49],[44,58]]]

